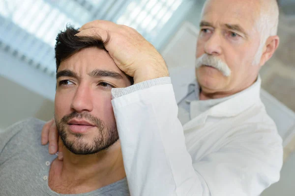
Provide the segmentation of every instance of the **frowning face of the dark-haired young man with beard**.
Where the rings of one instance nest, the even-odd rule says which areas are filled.
[[[127,86],[129,79],[103,49],[82,49],[60,63],[55,121],[71,152],[93,154],[118,140],[111,89]]]

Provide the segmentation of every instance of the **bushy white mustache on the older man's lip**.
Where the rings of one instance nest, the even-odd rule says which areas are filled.
[[[196,68],[203,65],[211,66],[219,70],[224,76],[229,77],[232,73],[229,66],[216,56],[211,56],[208,54],[203,54],[201,57],[196,59]]]

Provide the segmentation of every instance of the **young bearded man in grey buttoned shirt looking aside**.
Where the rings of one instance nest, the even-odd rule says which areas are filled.
[[[0,195],[129,196],[111,89],[133,80],[105,50],[107,41],[67,27],[56,43],[55,122],[63,161],[41,146],[44,122],[29,119],[0,135]]]

